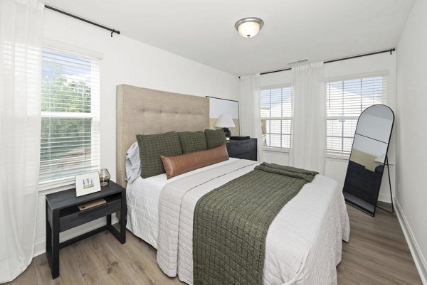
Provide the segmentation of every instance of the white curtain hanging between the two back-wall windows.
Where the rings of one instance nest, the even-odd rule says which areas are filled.
[[[325,87],[323,63],[292,68],[294,116],[289,164],[325,173]]]

